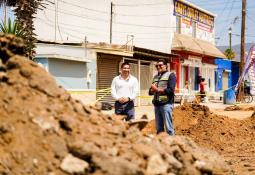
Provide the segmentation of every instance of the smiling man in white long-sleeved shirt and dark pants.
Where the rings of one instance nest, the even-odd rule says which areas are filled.
[[[129,63],[122,63],[121,74],[112,80],[111,94],[116,100],[115,114],[126,115],[126,121],[134,119],[134,100],[138,94],[138,81],[130,75]]]

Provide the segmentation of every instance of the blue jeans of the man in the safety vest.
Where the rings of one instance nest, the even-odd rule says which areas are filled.
[[[157,134],[164,132],[164,127],[169,135],[174,135],[173,127],[173,105],[165,104],[161,106],[155,106],[155,122]]]

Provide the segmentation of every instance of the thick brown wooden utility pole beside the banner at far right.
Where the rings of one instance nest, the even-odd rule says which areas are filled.
[[[244,68],[244,54],[245,54],[245,17],[246,17],[246,0],[242,0],[242,26],[241,26],[241,58],[240,58],[240,76]],[[238,93],[238,100],[242,99],[244,95],[243,84],[241,84]]]

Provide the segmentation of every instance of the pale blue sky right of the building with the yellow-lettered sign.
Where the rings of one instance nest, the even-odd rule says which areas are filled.
[[[242,0],[188,0],[189,2],[216,14],[215,41],[218,46],[229,45],[228,29],[232,28],[232,45],[241,41]],[[3,11],[0,10],[0,20]],[[13,15],[8,13],[13,18]],[[246,43],[255,42],[255,0],[247,0]]]

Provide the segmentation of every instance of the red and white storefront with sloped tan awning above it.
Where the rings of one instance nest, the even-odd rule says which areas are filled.
[[[187,35],[175,33],[172,45],[172,53],[180,55],[181,70],[180,89],[185,83],[190,84],[192,91],[199,90],[201,78],[205,78],[207,91],[215,92],[215,57],[225,56],[211,43],[199,40]]]

